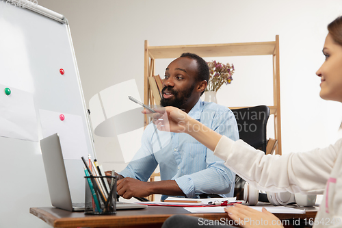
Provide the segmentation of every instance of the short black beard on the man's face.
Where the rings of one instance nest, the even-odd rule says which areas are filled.
[[[171,86],[166,86],[161,90],[161,94],[168,89],[168,92],[172,92],[173,97],[172,99],[165,99],[164,97],[161,97],[160,105],[163,107],[166,106],[173,106],[178,107],[180,109],[185,108],[183,107],[185,103],[187,103],[187,99],[192,96],[192,91],[194,91],[195,83],[192,84],[192,86],[183,91],[174,90]]]

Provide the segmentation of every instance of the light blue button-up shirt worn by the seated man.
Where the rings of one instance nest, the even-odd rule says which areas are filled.
[[[235,116],[228,107],[199,99],[189,116],[221,135],[239,139]],[[202,193],[233,197],[235,173],[213,151],[188,134],[159,131],[150,123],[142,136],[142,147],[119,174],[147,181],[158,164],[161,180],[175,180],[187,198]]]

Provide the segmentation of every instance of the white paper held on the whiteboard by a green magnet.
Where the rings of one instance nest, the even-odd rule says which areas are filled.
[[[38,142],[37,117],[31,93],[0,85],[0,136]]]

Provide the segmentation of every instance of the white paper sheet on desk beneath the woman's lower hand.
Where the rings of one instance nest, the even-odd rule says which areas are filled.
[[[261,212],[263,207],[250,207],[254,210]],[[184,207],[185,210],[191,213],[226,213],[224,207]],[[303,210],[291,208],[291,207],[266,207],[267,211],[271,213],[282,214],[305,214]]]

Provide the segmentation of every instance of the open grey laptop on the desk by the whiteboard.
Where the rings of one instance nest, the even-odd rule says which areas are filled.
[[[53,134],[52,136],[40,140],[40,148],[42,149],[45,174],[47,175],[47,185],[53,207],[58,207],[70,212],[84,211],[85,197],[83,197],[83,201],[80,203],[73,203],[71,199],[62,147],[58,134]],[[82,169],[81,171],[83,172],[82,166],[80,169]],[[77,178],[81,178],[81,181],[86,184],[84,175]],[[80,186],[79,188],[81,188],[82,192],[86,192],[85,186]],[[143,209],[146,207],[147,205],[136,203],[116,202],[116,210]]]

